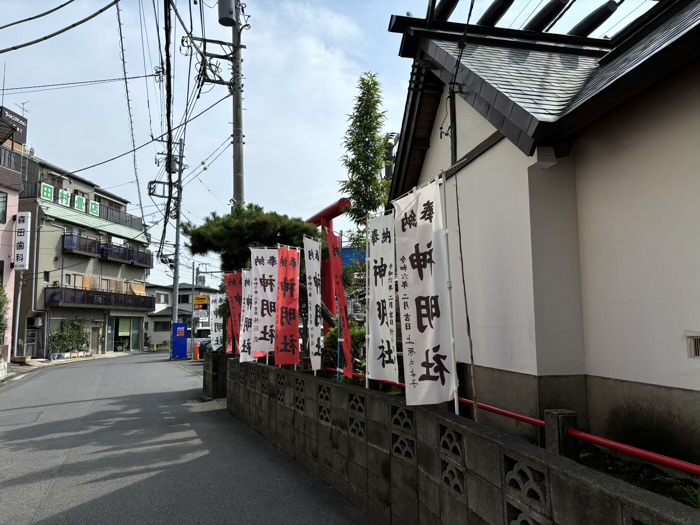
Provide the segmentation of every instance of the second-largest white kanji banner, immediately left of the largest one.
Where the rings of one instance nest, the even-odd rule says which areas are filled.
[[[370,219],[367,223],[367,271],[369,272],[369,312],[367,328],[367,374],[370,379],[399,382],[396,358],[396,292],[394,279],[394,214]]]

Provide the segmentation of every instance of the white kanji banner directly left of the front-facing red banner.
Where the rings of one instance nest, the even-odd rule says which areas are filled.
[[[253,355],[275,350],[277,248],[251,248]]]

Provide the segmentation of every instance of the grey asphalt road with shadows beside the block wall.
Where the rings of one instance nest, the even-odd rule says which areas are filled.
[[[0,524],[364,524],[370,519],[163,354],[0,386]]]

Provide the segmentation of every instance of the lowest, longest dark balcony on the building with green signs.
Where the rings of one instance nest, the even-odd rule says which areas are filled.
[[[148,312],[152,312],[156,307],[156,298],[149,295],[86,290],[68,286],[49,286],[46,288],[45,294],[45,302],[49,306],[145,310]]]

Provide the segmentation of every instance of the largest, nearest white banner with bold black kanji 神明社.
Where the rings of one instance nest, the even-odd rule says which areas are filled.
[[[407,405],[454,399],[450,279],[437,181],[394,201]]]

